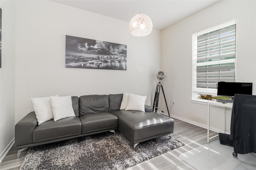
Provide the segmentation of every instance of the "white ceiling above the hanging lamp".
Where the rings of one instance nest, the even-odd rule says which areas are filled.
[[[54,2],[130,22],[147,14],[153,28],[164,29],[220,0],[52,0]]]

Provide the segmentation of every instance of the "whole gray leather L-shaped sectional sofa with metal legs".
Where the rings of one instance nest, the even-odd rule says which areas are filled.
[[[18,156],[22,150],[67,139],[120,130],[134,145],[173,133],[174,120],[152,112],[119,110],[123,94],[72,96],[75,117],[49,120],[38,125],[34,111],[15,125]]]

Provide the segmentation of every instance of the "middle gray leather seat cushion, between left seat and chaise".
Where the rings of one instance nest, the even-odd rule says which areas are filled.
[[[80,116],[80,119],[82,122],[82,134],[117,129],[118,118],[108,112],[86,114]]]

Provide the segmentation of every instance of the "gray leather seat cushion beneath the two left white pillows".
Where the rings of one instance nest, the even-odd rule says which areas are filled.
[[[38,125],[33,131],[33,143],[81,135],[79,117],[67,117],[58,121],[49,120]]]

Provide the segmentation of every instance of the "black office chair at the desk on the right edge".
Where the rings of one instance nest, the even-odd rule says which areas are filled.
[[[234,146],[233,156],[256,152],[256,96],[234,96],[230,140]]]

